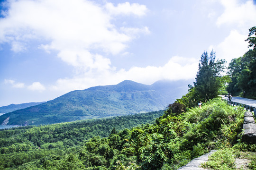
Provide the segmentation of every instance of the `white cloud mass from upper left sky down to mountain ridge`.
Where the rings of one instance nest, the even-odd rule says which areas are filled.
[[[145,17],[149,11],[145,5],[100,5],[89,0],[10,0],[5,5],[8,10],[2,11],[0,19],[0,43],[10,43],[12,51],[22,52],[29,48],[28,42],[36,40],[41,42],[38,49],[57,51],[57,57],[75,69],[73,77],[58,79],[49,87],[51,90],[68,92],[125,79],[151,84],[162,78],[191,78],[196,73],[198,61],[182,66],[174,61],[177,57],[162,67],[117,70],[111,66],[106,56],[126,54],[129,42],[141,34],[150,34],[147,26],[117,27],[112,21],[117,16]],[[184,67],[192,72],[185,73]],[[39,82],[27,88],[46,90]]]

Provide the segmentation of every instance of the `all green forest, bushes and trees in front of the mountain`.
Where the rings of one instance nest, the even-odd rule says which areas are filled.
[[[165,111],[1,130],[0,170],[177,170],[212,149],[218,159],[205,168],[235,170],[235,157],[247,152],[247,168],[256,170],[256,144],[241,142],[244,108],[218,98],[256,95],[256,27],[249,32],[253,49],[233,59],[226,76],[225,60],[203,52],[189,92]]]

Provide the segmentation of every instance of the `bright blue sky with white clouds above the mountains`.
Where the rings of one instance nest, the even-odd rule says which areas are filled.
[[[0,0],[0,106],[196,76],[248,51],[256,0]]]

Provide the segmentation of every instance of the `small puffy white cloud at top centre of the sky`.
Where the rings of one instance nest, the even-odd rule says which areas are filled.
[[[112,3],[106,4],[106,9],[112,15],[136,15],[139,17],[145,16],[147,8],[145,5],[140,5],[138,3],[129,2],[119,3],[116,7]]]

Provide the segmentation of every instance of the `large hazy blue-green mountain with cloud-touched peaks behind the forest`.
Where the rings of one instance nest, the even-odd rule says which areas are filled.
[[[41,125],[162,110],[187,89],[184,81],[144,85],[125,80],[118,85],[75,90],[52,101],[6,113],[0,116],[0,124]]]

